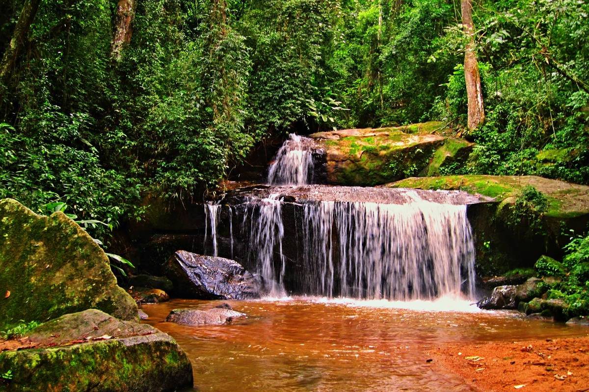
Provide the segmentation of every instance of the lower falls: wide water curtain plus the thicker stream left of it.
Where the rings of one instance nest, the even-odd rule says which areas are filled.
[[[431,202],[417,193],[411,199],[405,204],[317,200],[297,204],[302,208],[297,219],[302,223],[294,228],[299,262],[288,266],[282,250],[286,203],[278,194],[247,203],[250,264],[264,279],[276,282],[273,296],[285,292],[286,275],[289,282],[296,281],[289,290],[298,294],[389,300],[461,294],[474,298],[475,249],[466,205]]]

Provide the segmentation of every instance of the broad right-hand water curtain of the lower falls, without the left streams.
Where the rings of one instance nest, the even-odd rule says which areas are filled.
[[[475,250],[465,205],[313,202],[305,204],[303,222],[306,292],[390,300],[474,297]]]

